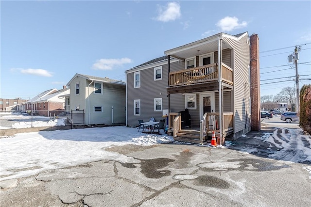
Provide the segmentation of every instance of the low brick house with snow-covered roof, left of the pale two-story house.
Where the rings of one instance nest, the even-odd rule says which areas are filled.
[[[65,99],[62,96],[69,94],[69,88],[63,86],[61,90],[48,90],[32,98],[26,103],[26,111],[33,110],[36,115],[57,116],[64,111]]]

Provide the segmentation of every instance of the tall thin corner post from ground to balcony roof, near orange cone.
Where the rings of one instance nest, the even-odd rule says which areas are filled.
[[[218,90],[219,90],[219,145],[222,146],[223,141],[223,109],[222,109],[222,39],[218,36]]]

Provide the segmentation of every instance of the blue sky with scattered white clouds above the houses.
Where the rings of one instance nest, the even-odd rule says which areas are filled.
[[[76,73],[125,81],[125,70],[218,32],[259,35],[261,83],[275,82],[261,96],[295,85],[296,45],[300,79],[311,78],[310,0],[1,0],[0,12],[1,98],[62,89]]]

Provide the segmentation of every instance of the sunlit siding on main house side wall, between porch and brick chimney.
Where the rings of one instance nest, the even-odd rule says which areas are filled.
[[[250,114],[248,113],[250,85],[248,80],[248,66],[250,64],[250,48],[248,36],[239,41],[224,37],[224,41],[233,48],[233,111],[234,132],[246,130],[250,127]],[[229,65],[228,65],[229,66]]]

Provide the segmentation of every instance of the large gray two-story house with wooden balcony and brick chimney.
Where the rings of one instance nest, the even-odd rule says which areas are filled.
[[[256,34],[218,33],[127,70],[127,126],[158,121],[167,109],[174,139],[184,140],[191,135],[182,130],[178,112],[188,109],[201,143],[211,131],[236,139],[260,130],[258,49]]]

